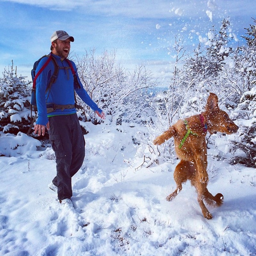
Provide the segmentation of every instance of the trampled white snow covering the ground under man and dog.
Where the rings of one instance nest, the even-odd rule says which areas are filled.
[[[85,125],[74,207],[47,186],[56,172],[52,149],[23,133],[0,133],[0,155],[9,156],[0,157],[0,255],[256,255],[256,172],[216,157],[228,157],[228,136],[216,135],[208,150],[208,189],[224,203],[208,206],[213,219],[206,220],[189,183],[165,200],[176,187],[177,160],[141,166],[147,149],[132,136],[145,128]]]

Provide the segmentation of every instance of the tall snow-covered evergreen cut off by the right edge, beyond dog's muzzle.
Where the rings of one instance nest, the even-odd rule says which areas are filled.
[[[232,141],[235,163],[256,167],[256,20],[243,36],[247,45],[238,49],[236,75],[240,77],[241,99],[235,110],[239,140]]]

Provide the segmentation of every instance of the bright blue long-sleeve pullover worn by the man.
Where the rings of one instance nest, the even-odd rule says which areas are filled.
[[[67,67],[60,68],[58,72],[57,80],[54,84],[52,84],[51,90],[46,92],[47,84],[49,84],[49,80],[54,72],[54,63],[50,61],[48,65],[44,68],[42,73],[36,79],[36,104],[38,109],[38,118],[36,124],[46,125],[48,123],[49,116],[59,116],[59,115],[69,115],[75,114],[76,109],[56,109],[53,112],[47,114],[46,103],[53,103],[56,105],[74,105],[75,104],[75,96],[74,89],[77,95],[86,103],[92,110],[98,110],[99,113],[102,112],[100,108],[98,108],[97,104],[90,98],[88,93],[84,90],[83,85],[78,77],[76,65],[73,61],[72,66],[76,72],[78,83],[80,84],[80,88],[74,88],[74,76],[72,71],[68,65],[68,62],[64,59],[60,60],[60,57],[52,54],[52,57],[55,58],[59,67]],[[38,66],[36,67],[36,73],[41,69],[44,63],[48,58],[43,58]],[[46,92],[46,93],[45,93]],[[47,100],[47,101],[46,101]]]

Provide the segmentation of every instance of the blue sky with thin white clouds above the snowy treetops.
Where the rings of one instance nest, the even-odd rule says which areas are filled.
[[[0,70],[13,60],[28,76],[35,60],[50,52],[55,30],[74,36],[71,51],[116,50],[123,67],[143,63],[157,78],[172,70],[172,45],[182,36],[187,52],[214,25],[229,17],[236,44],[253,23],[255,0],[0,0]],[[238,41],[239,40],[239,41]]]

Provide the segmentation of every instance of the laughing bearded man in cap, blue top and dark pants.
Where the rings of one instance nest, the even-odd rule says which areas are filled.
[[[76,65],[70,61],[77,78],[73,76],[67,58],[70,42],[74,42],[74,37],[69,36],[63,30],[58,30],[52,34],[51,42],[51,55],[57,61],[59,71],[56,82],[48,91],[46,91],[47,84],[49,84],[49,79],[55,68],[53,61],[48,63],[36,79],[38,119],[34,133],[38,132],[38,135],[44,136],[45,128],[49,131],[57,169],[57,176],[52,180],[49,188],[54,191],[58,190],[60,203],[71,204],[71,178],[82,166],[85,156],[85,141],[76,115],[74,89],[98,116],[105,119],[105,114],[84,90],[78,78]],[[45,57],[39,62],[36,73],[43,67],[47,59]],[[47,113],[48,109],[52,111]]]

